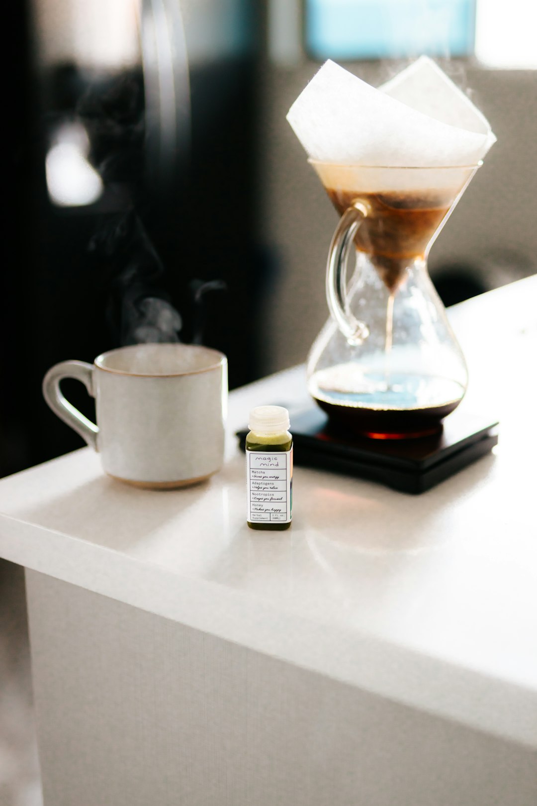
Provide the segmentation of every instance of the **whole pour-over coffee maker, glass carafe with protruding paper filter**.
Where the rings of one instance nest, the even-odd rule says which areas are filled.
[[[494,143],[489,124],[426,57],[380,90],[327,62],[287,119],[341,215],[309,392],[349,434],[435,434],[468,373],[428,252]]]

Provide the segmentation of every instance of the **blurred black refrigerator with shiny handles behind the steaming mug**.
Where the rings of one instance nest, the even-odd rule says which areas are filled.
[[[262,276],[254,0],[17,8],[3,475],[82,444],[41,397],[57,361],[91,361],[134,340],[202,338],[228,355],[230,387],[252,380]],[[93,417],[81,384],[66,381],[65,393]]]

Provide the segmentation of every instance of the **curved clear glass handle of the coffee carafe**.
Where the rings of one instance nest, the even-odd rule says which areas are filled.
[[[358,227],[367,216],[367,206],[359,198],[345,210],[334,232],[326,264],[326,299],[328,308],[349,344],[360,345],[370,334],[365,322],[351,313],[347,300],[346,268],[349,247]]]

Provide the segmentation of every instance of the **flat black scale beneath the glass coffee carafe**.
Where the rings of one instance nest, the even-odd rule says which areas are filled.
[[[237,433],[243,451],[247,433]],[[297,465],[360,476],[415,494],[453,476],[498,444],[498,422],[459,409],[445,418],[439,434],[371,439],[337,430],[312,406],[291,415],[291,433]]]

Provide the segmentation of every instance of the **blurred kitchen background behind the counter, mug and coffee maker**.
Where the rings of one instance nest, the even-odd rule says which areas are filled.
[[[444,303],[535,272],[527,0],[19,0],[13,11],[0,475],[81,446],[41,397],[60,360],[203,341],[228,355],[231,388],[304,361],[328,315],[337,217],[285,115],[327,58],[379,85],[428,53],[498,136],[432,250]],[[92,416],[81,384],[65,393]],[[22,581],[3,567],[0,583],[0,806],[35,806]]]

